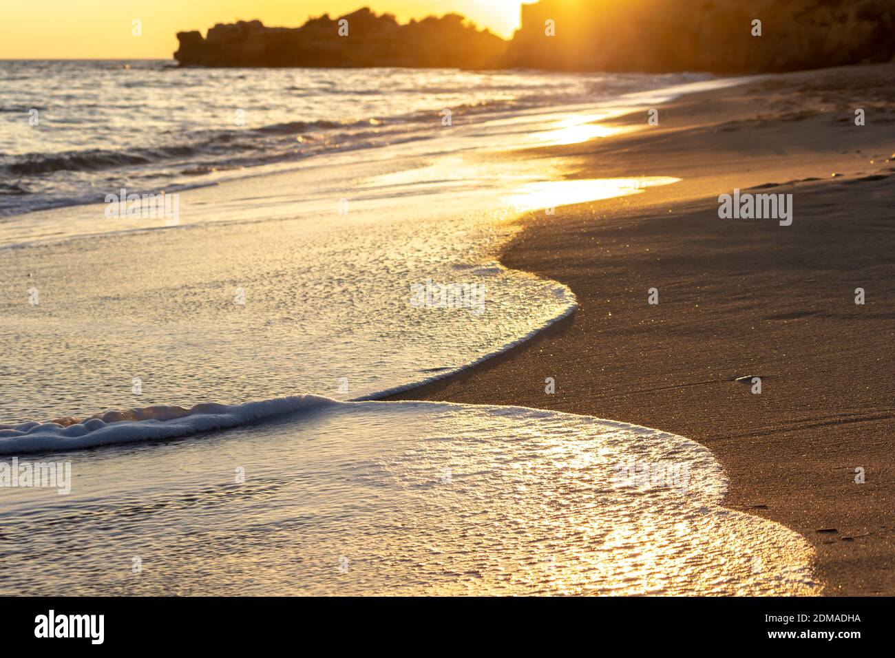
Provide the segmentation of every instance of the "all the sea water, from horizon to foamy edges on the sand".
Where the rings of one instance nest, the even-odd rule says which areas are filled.
[[[375,72],[216,71],[203,90],[200,72],[102,65],[94,74],[138,115],[149,110],[128,95],[167,84],[166,102],[194,111],[226,98],[221,117],[240,93],[278,107],[251,130],[338,125],[315,126],[331,148],[300,157],[277,155],[296,132],[252,137],[271,158],[190,189],[178,167],[205,167],[202,146],[14,182],[29,188],[16,203],[35,205],[9,205],[0,220],[0,483],[13,459],[68,463],[72,479],[64,494],[0,487],[4,594],[819,589],[805,541],[720,508],[720,466],[684,437],[530,409],[375,401],[574,312],[566,286],[497,262],[514,219],[677,181],[571,179],[569,163],[513,150],[611,139],[618,128],[605,119],[729,81],[383,71],[379,88],[400,92],[379,98],[371,86],[360,107]],[[60,70],[63,100],[47,110],[64,124],[81,92]],[[135,70],[140,90],[124,84]],[[192,87],[175,94],[170,76]],[[274,102],[286,81],[311,80],[334,91],[302,113]],[[0,95],[4,107],[22,102]],[[375,139],[345,147],[353,122],[371,118],[382,124],[362,130]],[[192,121],[140,115],[140,130],[110,138],[120,142],[91,135],[96,126],[81,139],[122,154],[167,148],[153,141],[166,130],[191,148],[204,130],[234,132]],[[67,130],[4,147],[6,172],[71,158]],[[234,164],[248,149],[214,157]],[[141,185],[174,196],[176,217],[115,217],[98,202]]]

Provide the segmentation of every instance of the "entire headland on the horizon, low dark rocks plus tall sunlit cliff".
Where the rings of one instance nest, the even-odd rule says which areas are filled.
[[[179,32],[200,66],[407,66],[774,73],[891,61],[895,0],[541,0],[510,40],[456,14],[399,24],[359,9],[300,28],[218,23]]]

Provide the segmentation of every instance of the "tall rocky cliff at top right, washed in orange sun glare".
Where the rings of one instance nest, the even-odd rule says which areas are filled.
[[[895,0],[541,0],[522,19],[509,67],[762,73],[895,55]]]

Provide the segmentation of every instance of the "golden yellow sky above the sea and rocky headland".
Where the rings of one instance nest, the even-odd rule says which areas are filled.
[[[525,0],[530,2],[531,0]],[[461,13],[503,37],[516,30],[522,0],[4,0],[0,59],[141,59],[172,56],[175,33],[216,22],[260,19],[297,27],[309,16],[369,6],[405,22],[432,13]],[[142,36],[132,35],[141,21]]]

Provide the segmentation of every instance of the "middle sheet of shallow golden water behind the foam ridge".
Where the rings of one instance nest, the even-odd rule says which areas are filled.
[[[531,147],[569,115],[439,126],[413,146],[181,192],[173,226],[108,218],[103,205],[7,219],[0,424],[298,393],[373,397],[516,345],[575,299],[499,266],[518,230],[509,220],[677,180],[567,181],[549,160],[493,152],[496,135],[504,150]],[[463,290],[459,303],[441,303],[447,286]]]

